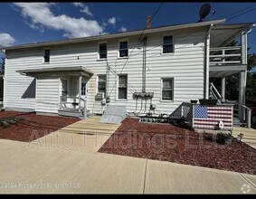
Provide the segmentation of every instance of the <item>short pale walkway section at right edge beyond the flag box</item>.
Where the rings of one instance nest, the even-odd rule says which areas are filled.
[[[256,129],[233,127],[233,130],[232,130],[233,137],[237,137],[240,133],[244,135],[242,137],[242,142],[256,149]]]

